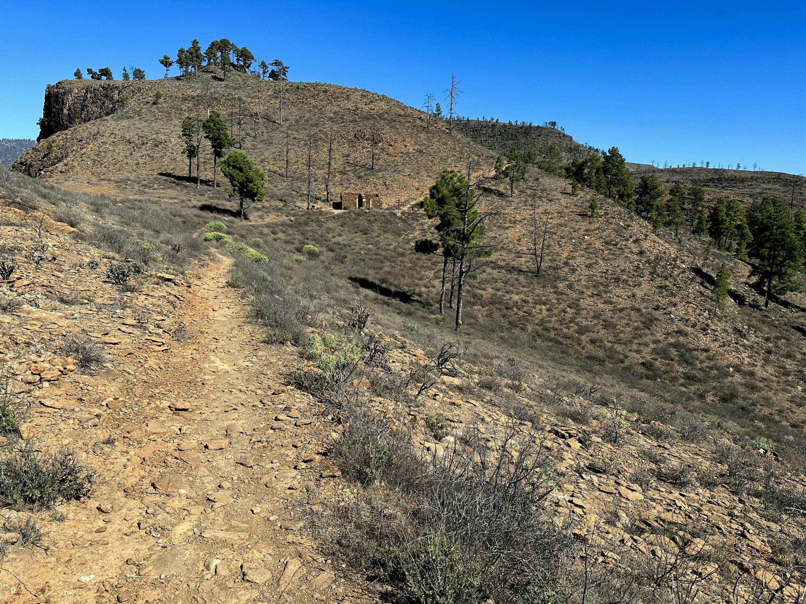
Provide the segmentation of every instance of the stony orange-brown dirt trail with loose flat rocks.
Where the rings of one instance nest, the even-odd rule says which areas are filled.
[[[65,374],[35,391],[28,436],[81,443],[99,483],[57,509],[64,519],[37,515],[42,545],[11,550],[0,602],[362,601],[305,531],[305,516],[344,488],[322,458],[332,420],[282,385],[301,361],[262,342],[225,285],[230,262],[218,258],[177,295],[185,341],[123,342],[129,354],[100,380]],[[104,400],[72,396],[69,378],[85,383],[76,392],[101,382]]]

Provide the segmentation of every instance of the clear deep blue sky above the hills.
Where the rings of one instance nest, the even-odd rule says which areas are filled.
[[[568,6],[566,8],[566,5]],[[542,123],[628,161],[806,172],[806,2],[0,2],[0,138],[35,138],[78,67],[160,77],[226,37],[289,77],[409,105],[451,72],[472,118]]]

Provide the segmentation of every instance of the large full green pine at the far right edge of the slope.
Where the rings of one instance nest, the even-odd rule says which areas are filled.
[[[770,295],[800,291],[795,271],[803,265],[803,249],[798,241],[795,219],[780,197],[765,196],[747,210],[747,223],[753,239],[750,255],[758,263],[750,272],[765,289],[764,308]]]

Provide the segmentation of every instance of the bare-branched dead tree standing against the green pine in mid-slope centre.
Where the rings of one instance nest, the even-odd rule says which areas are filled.
[[[476,194],[476,185],[487,180],[486,178],[471,184],[472,162],[467,163],[467,184],[465,186],[464,200],[461,205],[456,206],[458,226],[453,230],[455,241],[458,245],[456,254],[456,265],[458,275],[456,276],[456,321],[454,329],[462,327],[462,311],[464,304],[464,286],[467,275],[479,270],[478,259],[486,258],[492,254],[492,245],[480,245],[476,238],[484,231],[484,224],[488,218],[495,216],[496,209],[487,212],[479,211],[479,203],[483,193]]]

